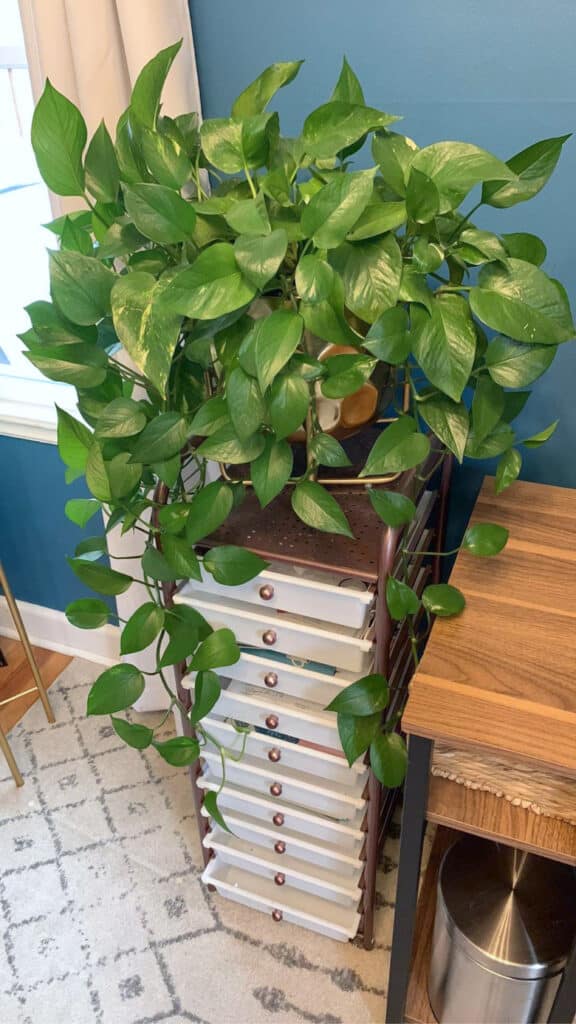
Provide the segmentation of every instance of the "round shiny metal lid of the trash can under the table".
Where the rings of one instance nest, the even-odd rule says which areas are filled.
[[[466,836],[448,850],[438,896],[456,944],[509,978],[561,971],[576,933],[576,872],[567,864]]]

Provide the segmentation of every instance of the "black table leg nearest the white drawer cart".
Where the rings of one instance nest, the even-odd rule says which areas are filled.
[[[402,1024],[410,978],[433,743],[410,736],[404,791],[398,891],[388,974],[386,1024]]]

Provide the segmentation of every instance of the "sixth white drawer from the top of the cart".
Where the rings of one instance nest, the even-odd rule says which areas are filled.
[[[210,766],[210,774],[221,778],[219,755],[205,748],[202,757]],[[361,796],[353,796],[349,791],[335,783],[315,784],[303,772],[290,771],[288,768],[277,771],[274,765],[269,768],[266,764],[253,758],[244,757],[238,762],[227,761],[225,772],[227,778],[242,788],[252,790],[253,793],[276,800],[286,800],[290,804],[307,807],[338,820],[354,818],[365,803]]]

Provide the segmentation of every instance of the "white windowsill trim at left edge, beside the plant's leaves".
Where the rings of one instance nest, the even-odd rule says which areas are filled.
[[[56,404],[78,416],[74,388],[0,367],[0,436],[56,444]]]

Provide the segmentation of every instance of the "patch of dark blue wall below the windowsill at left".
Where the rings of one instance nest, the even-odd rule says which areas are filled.
[[[85,530],[70,522],[69,498],[88,497],[80,481],[68,486],[54,444],[0,437],[0,559],[16,598],[64,609],[93,597],[66,564],[84,536],[101,532],[94,518]]]

